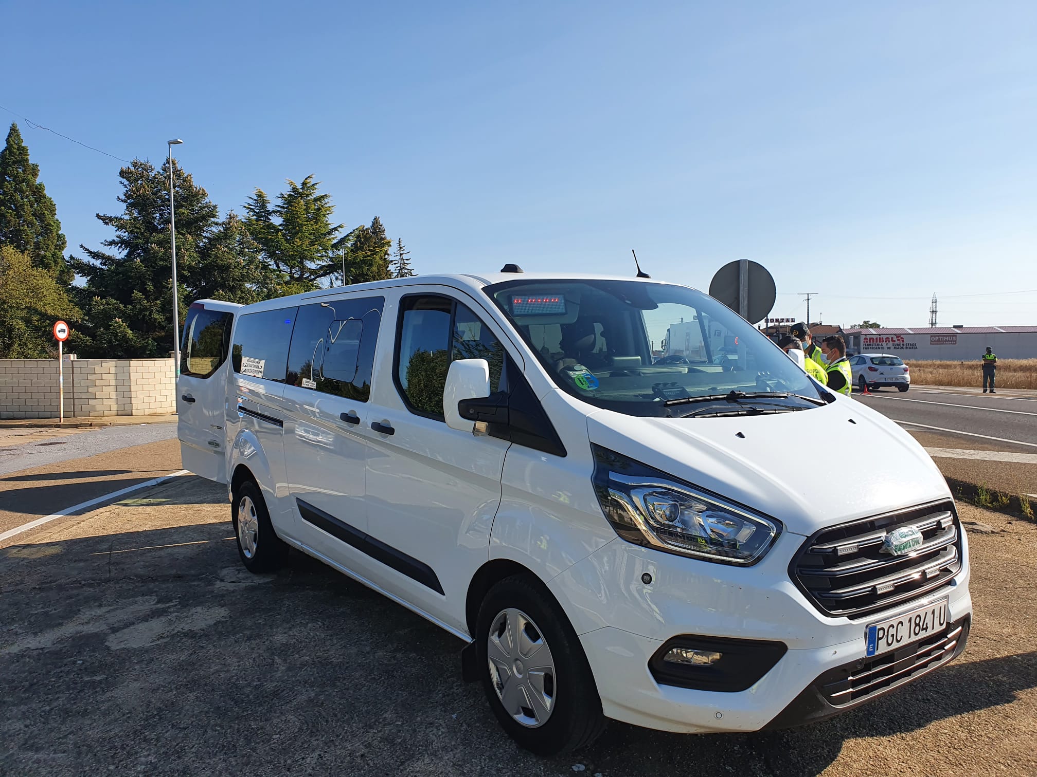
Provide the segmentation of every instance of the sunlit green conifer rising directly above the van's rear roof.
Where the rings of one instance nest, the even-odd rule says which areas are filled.
[[[318,288],[340,269],[349,235],[339,236],[343,225],[331,222],[331,196],[317,193],[319,181],[312,175],[287,183],[273,207],[265,193],[255,190],[245,204],[245,225],[267,262],[284,276],[285,291],[295,293]]]

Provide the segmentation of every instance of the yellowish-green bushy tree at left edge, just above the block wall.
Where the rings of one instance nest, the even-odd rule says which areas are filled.
[[[28,254],[0,246],[0,358],[45,358],[57,350],[52,327],[79,310]]]

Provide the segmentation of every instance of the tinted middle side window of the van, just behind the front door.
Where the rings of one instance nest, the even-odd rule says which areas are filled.
[[[287,382],[366,402],[384,297],[335,299],[299,309]]]

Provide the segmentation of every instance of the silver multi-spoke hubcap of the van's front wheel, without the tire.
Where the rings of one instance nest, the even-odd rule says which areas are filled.
[[[555,710],[555,660],[533,620],[513,607],[501,610],[489,627],[486,659],[508,715],[529,728],[546,723]]]

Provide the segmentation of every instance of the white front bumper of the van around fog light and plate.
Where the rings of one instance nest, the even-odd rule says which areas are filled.
[[[616,541],[552,580],[549,586],[580,635],[605,715],[677,732],[783,728],[859,707],[960,655],[972,615],[966,560],[948,585],[850,621],[821,613],[789,580],[789,560],[804,539],[780,538],[768,556],[751,568]],[[870,623],[944,598],[950,609],[945,632],[867,657]],[[670,640],[694,642],[697,637],[742,640],[747,651],[754,643],[780,643],[787,650],[769,669],[750,669],[748,687],[681,687],[658,671],[656,654]],[[721,646],[706,649],[724,652]],[[746,665],[758,666],[751,659]]]

